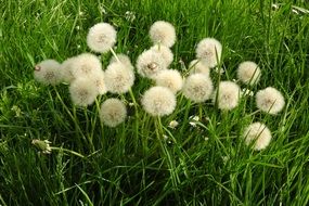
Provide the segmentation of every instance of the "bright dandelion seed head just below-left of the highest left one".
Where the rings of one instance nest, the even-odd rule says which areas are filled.
[[[102,70],[101,61],[96,55],[82,53],[74,57],[72,63],[74,78],[91,78]]]

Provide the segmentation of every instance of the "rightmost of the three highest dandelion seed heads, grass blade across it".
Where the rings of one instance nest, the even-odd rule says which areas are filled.
[[[201,40],[196,48],[196,57],[208,67],[215,67],[220,62],[222,53],[221,43],[214,38]],[[218,62],[219,61],[219,62]]]

